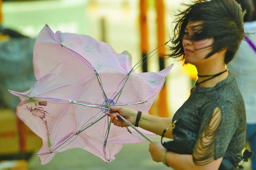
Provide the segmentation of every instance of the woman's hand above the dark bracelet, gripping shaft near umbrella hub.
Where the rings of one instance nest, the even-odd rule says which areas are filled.
[[[119,127],[129,126],[128,124],[126,124],[126,122],[124,122],[121,118],[119,118],[119,114],[121,114],[123,117],[125,117],[126,120],[131,122],[131,124],[133,124],[133,125],[135,124],[137,112],[134,111],[133,109],[126,108],[126,107],[110,107],[110,111],[112,111],[114,113],[106,112],[106,114],[108,114],[108,116],[110,116],[111,122],[115,126],[119,126]]]

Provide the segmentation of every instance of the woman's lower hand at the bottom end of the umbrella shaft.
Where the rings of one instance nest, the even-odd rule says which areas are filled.
[[[148,151],[150,151],[151,157],[155,162],[162,162],[166,148],[160,142],[151,142]]]

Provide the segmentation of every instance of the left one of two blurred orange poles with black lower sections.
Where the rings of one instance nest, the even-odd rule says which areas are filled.
[[[139,14],[139,26],[141,33],[141,52],[142,58],[147,55],[148,52],[148,27],[147,27],[147,0],[139,1],[140,14]],[[147,58],[143,59],[142,64],[143,72],[147,72]]]

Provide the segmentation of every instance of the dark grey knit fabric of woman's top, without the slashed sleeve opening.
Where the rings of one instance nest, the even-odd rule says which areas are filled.
[[[201,136],[205,126],[208,126],[212,113],[217,107],[221,109],[222,115],[213,147],[214,159],[223,157],[227,150],[241,156],[246,137],[245,105],[236,80],[230,73],[215,87],[193,87],[191,96],[175,113],[172,121],[181,119],[189,125],[189,128],[185,128],[186,134],[190,134],[192,146],[195,146],[196,140]],[[175,130],[173,135],[175,141]],[[193,152],[193,148],[191,151]]]

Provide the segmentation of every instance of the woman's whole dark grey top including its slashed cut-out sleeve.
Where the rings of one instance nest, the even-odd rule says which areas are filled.
[[[193,87],[172,123],[176,126],[172,143],[178,142],[172,151],[192,154],[193,161],[199,165],[224,157],[226,151],[241,156],[245,147],[246,114],[234,77],[229,73],[214,87]],[[183,132],[176,130],[177,126],[183,126]]]

